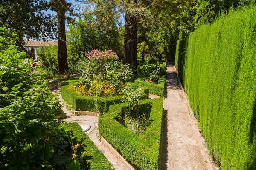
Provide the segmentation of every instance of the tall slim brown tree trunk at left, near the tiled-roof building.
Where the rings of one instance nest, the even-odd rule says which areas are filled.
[[[63,0],[64,1],[64,0]],[[64,4],[64,2],[62,3]],[[67,41],[66,41],[66,28],[65,28],[65,11],[58,10],[58,65],[59,73],[64,74],[68,71],[67,65]]]

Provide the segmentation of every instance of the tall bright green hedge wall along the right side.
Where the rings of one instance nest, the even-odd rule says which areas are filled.
[[[221,170],[256,170],[256,7],[177,42],[176,67]]]

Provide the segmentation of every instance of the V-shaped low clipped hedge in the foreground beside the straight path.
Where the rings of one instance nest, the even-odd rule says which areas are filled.
[[[163,98],[147,99],[141,103],[141,107],[145,107],[142,110],[148,110],[147,104],[152,104],[149,117],[151,122],[144,136],[137,136],[118,121],[127,103],[111,105],[108,113],[100,116],[99,133],[140,170],[158,170]]]

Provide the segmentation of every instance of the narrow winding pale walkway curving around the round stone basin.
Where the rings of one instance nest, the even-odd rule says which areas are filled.
[[[113,168],[115,168],[116,170],[135,170],[133,167],[131,167],[131,165],[129,166],[129,169],[127,167],[127,162],[124,164],[123,161],[125,161],[125,159],[122,158],[122,156],[119,154],[119,158],[122,159],[123,161],[119,161],[116,156],[111,153],[111,150],[109,150],[107,147],[105,147],[104,144],[102,144],[102,142],[99,139],[99,130],[98,130],[98,120],[99,117],[97,116],[87,116],[87,115],[81,115],[81,116],[75,116],[73,115],[70,110],[67,108],[67,105],[64,105],[64,101],[61,98],[61,90],[59,88],[55,88],[51,90],[52,93],[54,95],[58,95],[58,98],[60,100],[60,104],[62,105],[61,110],[63,112],[63,116],[66,116],[66,118],[64,118],[67,122],[72,122],[75,120],[87,120],[90,122],[93,122],[95,124],[95,129],[93,131],[91,131],[90,133],[87,133],[87,135],[90,137],[90,139],[94,142],[94,144],[96,145],[96,147],[98,147],[99,150],[102,151],[102,153],[106,156],[106,158],[108,159],[108,161],[111,162],[111,164],[113,165]],[[112,147],[113,148],[113,147]]]

